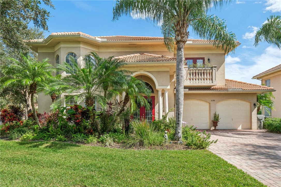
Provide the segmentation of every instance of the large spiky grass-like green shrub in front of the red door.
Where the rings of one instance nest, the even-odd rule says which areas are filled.
[[[133,129],[129,134],[126,146],[128,147],[148,147],[150,145],[162,145],[163,133],[156,131],[156,128],[147,121],[131,122]]]

